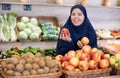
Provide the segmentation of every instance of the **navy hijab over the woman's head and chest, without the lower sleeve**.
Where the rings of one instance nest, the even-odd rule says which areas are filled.
[[[84,21],[80,26],[74,26],[72,21],[71,21],[71,13],[74,9],[79,8],[83,14],[84,14]],[[75,43],[80,40],[82,37],[86,36],[90,39],[89,45],[91,47],[97,47],[97,38],[96,38],[96,33],[94,31],[94,28],[92,24],[90,23],[88,17],[87,17],[87,12],[84,6],[77,4],[74,5],[71,8],[70,11],[70,16],[66,22],[66,24],[63,26],[65,28],[68,28],[71,34],[72,39],[75,41]]]

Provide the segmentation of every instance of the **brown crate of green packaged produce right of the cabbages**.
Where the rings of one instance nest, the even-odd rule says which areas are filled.
[[[57,28],[60,28],[57,17],[38,16],[38,22],[39,22],[41,29],[45,28],[45,30],[42,29],[42,40],[43,41],[56,41],[58,39],[58,34],[55,34],[56,32],[59,33]],[[44,34],[45,31],[47,31],[46,35]]]

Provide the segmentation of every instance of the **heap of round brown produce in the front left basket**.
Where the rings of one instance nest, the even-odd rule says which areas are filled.
[[[58,72],[58,61],[50,56],[42,57],[41,53],[33,55],[28,52],[20,56],[13,55],[1,62],[2,73],[6,76],[28,76]]]

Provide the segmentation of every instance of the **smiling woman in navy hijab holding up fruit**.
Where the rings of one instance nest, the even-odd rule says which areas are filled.
[[[97,47],[96,33],[87,17],[84,6],[77,4],[71,8],[70,16],[63,28],[67,28],[69,34],[65,35],[60,32],[56,47],[57,54],[65,55],[69,50],[81,49],[80,40],[82,37],[89,39],[88,45],[92,48]]]

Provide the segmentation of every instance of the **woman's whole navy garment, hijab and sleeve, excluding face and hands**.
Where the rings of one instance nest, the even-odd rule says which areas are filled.
[[[74,26],[72,21],[71,21],[71,13],[74,9],[79,8],[83,14],[84,14],[84,21],[81,25],[79,26]],[[58,39],[57,42],[57,48],[56,52],[57,54],[62,54],[64,55],[66,52],[69,50],[78,50],[80,49],[77,45],[77,41],[80,40],[82,37],[87,37],[89,38],[90,42],[89,45],[93,47],[97,47],[97,37],[95,30],[90,23],[88,17],[87,17],[87,12],[84,6],[80,4],[76,4],[71,8],[70,11],[70,16],[65,23],[65,25],[62,28],[68,28],[70,31],[70,36],[72,38],[72,42],[66,42],[61,39]]]

